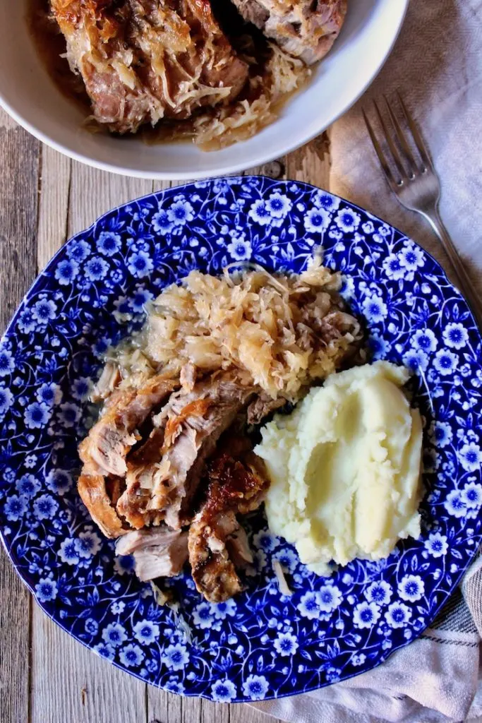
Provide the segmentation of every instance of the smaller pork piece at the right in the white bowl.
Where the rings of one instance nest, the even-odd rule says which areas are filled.
[[[308,65],[332,47],[346,14],[346,0],[233,0],[252,22],[286,53]]]

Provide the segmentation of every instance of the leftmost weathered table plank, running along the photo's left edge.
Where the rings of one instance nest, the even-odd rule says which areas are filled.
[[[35,278],[40,143],[0,111],[0,330]],[[0,720],[29,714],[30,594],[0,552]]]

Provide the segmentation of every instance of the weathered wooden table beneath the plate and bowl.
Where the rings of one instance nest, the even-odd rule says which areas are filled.
[[[327,188],[327,134],[280,164],[288,178]],[[270,164],[250,169],[272,171]],[[170,185],[114,176],[70,161],[0,111],[1,331],[66,239],[108,209]],[[44,615],[1,550],[0,723],[267,721],[275,723],[244,704],[215,705],[163,693],[100,659]]]

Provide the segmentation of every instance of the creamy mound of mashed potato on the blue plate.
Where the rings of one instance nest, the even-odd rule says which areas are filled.
[[[319,575],[420,534],[422,428],[400,390],[408,377],[384,361],[334,374],[262,429],[268,524]]]

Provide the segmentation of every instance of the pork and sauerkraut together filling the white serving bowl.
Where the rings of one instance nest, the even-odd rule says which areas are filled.
[[[144,134],[148,142],[189,138],[218,150],[272,123],[305,84],[304,60],[321,56],[320,43],[337,34],[338,17],[324,9],[331,2],[343,0],[320,0],[321,10],[309,0],[288,9],[277,3],[268,22],[260,18],[269,0],[234,0],[240,14],[228,0],[215,13],[210,0],[50,0],[50,7],[90,99],[87,127],[118,134],[155,127]],[[262,13],[251,17],[249,6]]]

